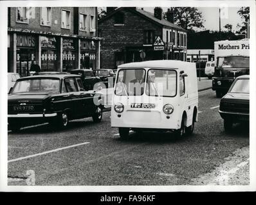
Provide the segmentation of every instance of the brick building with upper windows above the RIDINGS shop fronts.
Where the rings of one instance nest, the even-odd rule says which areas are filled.
[[[96,7],[8,8],[8,72],[99,67]]]

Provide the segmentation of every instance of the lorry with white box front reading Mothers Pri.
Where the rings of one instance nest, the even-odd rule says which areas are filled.
[[[249,39],[214,42],[215,72],[212,90],[221,97],[228,92],[235,78],[250,74]]]

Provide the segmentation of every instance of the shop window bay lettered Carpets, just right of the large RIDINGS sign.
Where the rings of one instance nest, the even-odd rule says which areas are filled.
[[[59,71],[57,40],[55,37],[41,38],[41,71]]]

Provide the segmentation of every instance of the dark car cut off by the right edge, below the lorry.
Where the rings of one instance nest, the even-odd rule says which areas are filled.
[[[250,76],[239,76],[228,93],[221,98],[219,114],[224,120],[224,130],[230,131],[236,122],[250,119]]]

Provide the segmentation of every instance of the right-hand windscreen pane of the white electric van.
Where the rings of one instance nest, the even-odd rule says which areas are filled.
[[[150,96],[174,97],[176,95],[176,71],[149,69],[146,94]]]

